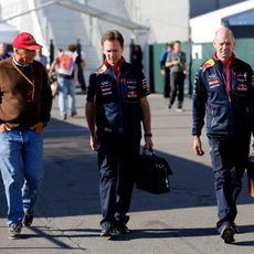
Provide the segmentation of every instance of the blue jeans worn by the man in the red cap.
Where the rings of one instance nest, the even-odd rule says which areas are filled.
[[[8,225],[32,211],[43,179],[43,136],[33,130],[0,134],[0,170],[8,203]]]

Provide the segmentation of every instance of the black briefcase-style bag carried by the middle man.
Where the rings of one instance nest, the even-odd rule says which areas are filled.
[[[154,150],[149,150],[149,155],[147,155],[146,150],[144,148],[140,155],[136,174],[136,187],[154,194],[169,192],[169,176],[172,174],[171,168],[167,160],[156,156]]]

